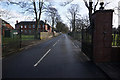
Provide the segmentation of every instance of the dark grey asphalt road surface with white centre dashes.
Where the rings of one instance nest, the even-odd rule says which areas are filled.
[[[66,34],[5,57],[2,78],[109,80]]]

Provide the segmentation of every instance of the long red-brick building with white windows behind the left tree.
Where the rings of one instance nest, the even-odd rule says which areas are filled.
[[[22,34],[32,35],[35,31],[35,21],[21,21],[18,23],[16,21],[15,29],[19,31],[21,27]],[[44,21],[40,21],[38,25],[39,32],[51,32],[51,27],[49,24],[46,24]]]

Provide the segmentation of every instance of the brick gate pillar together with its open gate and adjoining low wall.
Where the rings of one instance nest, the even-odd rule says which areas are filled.
[[[91,26],[82,30],[82,51],[94,62],[120,61],[120,47],[112,47],[112,18],[113,10],[98,10]]]

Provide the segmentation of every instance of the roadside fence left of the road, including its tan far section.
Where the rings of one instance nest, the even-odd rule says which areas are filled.
[[[2,56],[40,40],[35,39],[34,34],[21,34],[16,30],[9,30],[5,35],[9,36],[2,36]],[[37,37],[47,39],[53,37],[52,35],[52,32],[41,32]],[[58,34],[56,33],[56,35]]]

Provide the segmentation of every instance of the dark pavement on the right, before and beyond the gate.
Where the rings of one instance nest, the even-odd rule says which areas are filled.
[[[80,41],[74,40],[73,38],[71,40],[81,48]],[[120,62],[101,62],[95,64],[110,80],[120,80]]]

